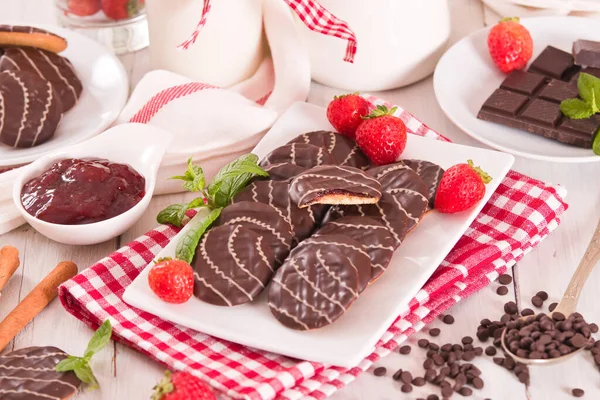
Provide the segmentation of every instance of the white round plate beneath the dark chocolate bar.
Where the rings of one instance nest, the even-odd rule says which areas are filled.
[[[533,57],[548,45],[571,52],[577,39],[600,41],[598,20],[578,17],[524,18],[533,38]],[[600,161],[591,149],[477,119],[483,102],[506,77],[492,62],[487,49],[488,28],[452,46],[440,59],[433,86],[440,107],[465,133],[495,149],[536,160],[555,162]]]

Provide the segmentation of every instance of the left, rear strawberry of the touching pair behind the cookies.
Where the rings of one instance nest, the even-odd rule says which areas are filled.
[[[356,129],[371,112],[371,104],[358,93],[335,96],[327,106],[327,119],[342,135],[354,139]]]

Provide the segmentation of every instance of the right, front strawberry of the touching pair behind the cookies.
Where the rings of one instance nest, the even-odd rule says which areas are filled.
[[[406,125],[392,115],[395,111],[377,106],[356,130],[356,143],[375,164],[396,162],[406,147]]]

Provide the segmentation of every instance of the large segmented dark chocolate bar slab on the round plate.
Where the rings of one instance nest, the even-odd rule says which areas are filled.
[[[600,128],[600,116],[570,119],[560,111],[561,101],[577,97],[581,69],[569,53],[548,46],[528,72],[513,71],[485,101],[477,118],[521,129],[578,147],[591,148]]]

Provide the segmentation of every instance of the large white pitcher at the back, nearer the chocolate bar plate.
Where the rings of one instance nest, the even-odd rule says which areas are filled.
[[[310,52],[312,78],[327,86],[376,91],[431,74],[450,36],[448,0],[319,0],[345,20],[357,39],[354,63],[346,42],[312,32],[297,21]]]

